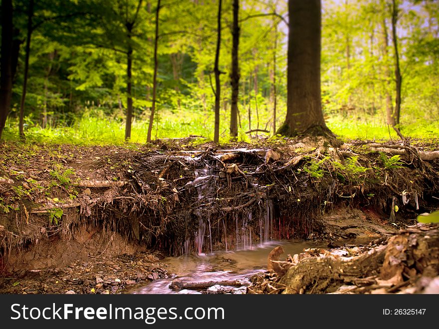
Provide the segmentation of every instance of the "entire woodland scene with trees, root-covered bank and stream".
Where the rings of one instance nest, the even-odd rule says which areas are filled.
[[[438,1],[0,10],[1,293],[439,292]]]

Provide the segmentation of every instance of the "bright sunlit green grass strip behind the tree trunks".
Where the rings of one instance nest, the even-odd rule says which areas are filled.
[[[280,116],[279,116],[280,117]],[[281,120],[282,117],[280,117]],[[242,128],[239,129],[239,141],[250,141],[245,130],[248,127],[246,117],[241,115]],[[228,142],[228,116],[221,113],[220,142]],[[412,120],[406,123],[402,118],[401,132],[404,136],[421,139],[433,139],[439,136],[439,122],[432,120]],[[147,139],[148,119],[135,119],[132,122],[131,144],[144,144]],[[398,140],[396,132],[383,124],[381,117],[368,116],[365,118],[331,116],[326,120],[328,127],[341,139],[363,139],[383,141]],[[254,123],[254,119],[252,121]],[[260,125],[264,128],[264,125]],[[27,126],[25,130],[26,142],[45,144],[72,144],[72,145],[125,145],[125,122],[111,119],[100,113],[84,115],[70,126],[58,126],[42,129],[39,125]],[[190,135],[204,136],[212,140],[214,135],[213,112],[171,112],[159,113],[154,125],[152,139],[181,138]],[[17,122],[8,119],[3,132],[6,141],[19,141]]]

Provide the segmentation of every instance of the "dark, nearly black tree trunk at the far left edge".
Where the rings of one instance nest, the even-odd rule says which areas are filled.
[[[12,96],[12,0],[1,0],[0,138]]]

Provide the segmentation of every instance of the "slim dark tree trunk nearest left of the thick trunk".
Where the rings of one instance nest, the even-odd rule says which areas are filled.
[[[230,109],[230,136],[234,139],[238,136],[238,95],[239,95],[239,25],[238,25],[239,0],[233,0],[233,27],[232,27],[232,50],[231,50],[231,109]]]

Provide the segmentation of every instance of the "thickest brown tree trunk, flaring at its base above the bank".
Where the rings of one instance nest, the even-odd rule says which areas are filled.
[[[278,133],[293,136],[311,127],[327,130],[320,95],[321,3],[289,0],[287,114]]]

